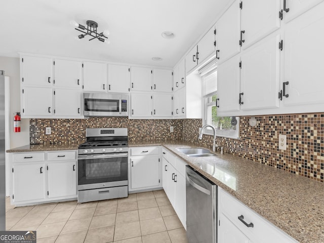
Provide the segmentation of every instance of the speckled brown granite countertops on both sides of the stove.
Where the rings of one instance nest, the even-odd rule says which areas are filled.
[[[189,166],[301,243],[324,242],[324,183],[231,154],[189,157],[181,141],[136,141],[129,147],[164,146]],[[74,150],[78,144],[26,145],[7,152]]]

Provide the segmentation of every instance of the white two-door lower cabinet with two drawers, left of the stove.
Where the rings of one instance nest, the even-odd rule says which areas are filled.
[[[76,152],[13,153],[11,203],[71,199],[76,192]]]

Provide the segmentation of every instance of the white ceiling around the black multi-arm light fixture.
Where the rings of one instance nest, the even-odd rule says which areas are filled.
[[[28,52],[173,67],[228,7],[228,0],[10,0],[0,15],[0,56]],[[89,37],[70,21],[98,23],[110,44]],[[175,37],[166,39],[163,31]],[[153,61],[152,57],[163,60]]]

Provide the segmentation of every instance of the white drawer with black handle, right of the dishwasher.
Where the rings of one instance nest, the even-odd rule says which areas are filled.
[[[271,224],[265,218],[254,212],[249,207],[242,204],[239,200],[225,192],[220,191],[220,208],[221,213],[223,213],[228,219],[245,235],[247,235],[252,241],[264,243],[272,242],[296,242],[288,234],[281,231],[279,228]],[[243,216],[243,217],[241,217]],[[244,224],[253,224],[253,227],[248,227]],[[220,222],[222,224],[222,222]],[[250,225],[252,226],[252,225]]]

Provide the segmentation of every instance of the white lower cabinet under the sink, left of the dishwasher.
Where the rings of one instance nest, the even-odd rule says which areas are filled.
[[[186,163],[164,148],[162,153],[163,189],[183,227],[186,228],[186,178],[184,174]]]

